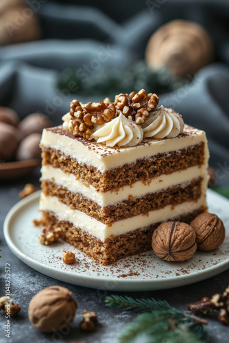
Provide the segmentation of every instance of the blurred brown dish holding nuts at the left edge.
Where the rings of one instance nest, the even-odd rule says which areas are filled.
[[[36,166],[40,164],[38,158],[33,158],[26,161],[1,162],[0,163],[0,180],[8,180],[10,178],[19,178],[29,174]]]

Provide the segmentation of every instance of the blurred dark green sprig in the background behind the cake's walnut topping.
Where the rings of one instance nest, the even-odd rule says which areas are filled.
[[[161,69],[150,68],[144,60],[134,62],[123,68],[106,68],[101,67],[93,73],[85,76],[77,73],[79,66],[67,67],[58,76],[57,86],[60,91],[69,89],[69,84],[75,82],[77,87],[73,93],[77,94],[91,94],[91,95],[106,95],[112,98],[116,94],[130,93],[132,91],[139,91],[145,88],[147,93],[154,91],[154,93],[166,93],[174,91],[184,84],[189,83],[188,80],[181,80],[169,71],[168,68]],[[83,73],[86,74],[86,73]],[[84,80],[85,78],[85,80]],[[121,84],[121,88],[120,88]]]

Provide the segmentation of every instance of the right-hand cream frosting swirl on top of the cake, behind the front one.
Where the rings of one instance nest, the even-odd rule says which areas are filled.
[[[184,121],[178,113],[171,108],[160,106],[143,123],[144,137],[156,139],[174,138],[182,133]]]

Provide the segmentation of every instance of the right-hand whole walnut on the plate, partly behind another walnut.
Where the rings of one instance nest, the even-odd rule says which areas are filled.
[[[195,230],[197,248],[204,251],[219,248],[225,239],[224,223],[215,214],[202,213],[192,222]]]

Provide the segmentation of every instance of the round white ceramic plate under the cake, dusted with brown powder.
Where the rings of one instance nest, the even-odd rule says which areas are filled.
[[[99,265],[64,241],[44,246],[38,242],[40,228],[32,224],[39,217],[39,196],[40,191],[33,193],[10,210],[5,218],[4,235],[16,257],[54,279],[112,291],[146,291],[189,285],[229,268],[229,201],[213,191],[208,191],[209,212],[217,213],[224,221],[224,244],[212,252],[197,250],[192,259],[182,263],[162,261],[148,251],[112,265]],[[64,264],[62,250],[74,252],[77,262]]]

